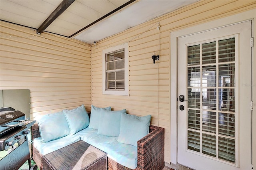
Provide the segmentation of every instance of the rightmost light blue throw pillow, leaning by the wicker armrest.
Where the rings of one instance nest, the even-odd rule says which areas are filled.
[[[149,132],[150,120],[151,115],[138,117],[122,113],[118,142],[132,144],[137,147],[137,141]]]

